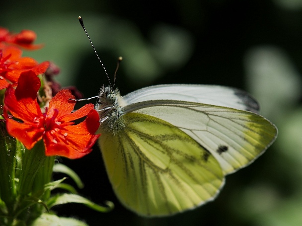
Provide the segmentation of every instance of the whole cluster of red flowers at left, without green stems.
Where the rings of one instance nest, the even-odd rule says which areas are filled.
[[[46,156],[80,158],[91,151],[99,136],[94,135],[99,125],[98,113],[92,104],[71,113],[75,101],[70,99],[75,99],[75,96],[70,90],[62,90],[52,99],[52,93],[46,93],[44,99],[51,100],[49,104],[44,103],[45,106],[42,103],[44,108],[40,109],[41,103],[37,101],[40,79],[44,79],[44,86],[47,86],[47,79],[43,75],[50,65],[53,70],[54,65],[48,61],[38,63],[31,57],[22,57],[18,47],[30,50],[42,47],[32,44],[35,39],[33,31],[11,34],[7,29],[0,28],[0,90],[6,88],[4,116],[7,131],[27,149],[32,149],[43,139]],[[84,116],[87,116],[86,119],[75,125],[74,120]]]

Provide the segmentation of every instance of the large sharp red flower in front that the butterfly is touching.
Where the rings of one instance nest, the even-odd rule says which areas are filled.
[[[5,112],[9,111],[15,120],[5,113],[6,128],[10,135],[31,149],[43,139],[45,155],[60,155],[70,159],[81,158],[91,152],[99,135],[94,135],[99,127],[99,116],[93,104],[87,104],[71,113],[75,107],[75,97],[70,90],[61,90],[42,113],[37,103],[37,91],[41,84],[33,71],[21,73],[16,89],[10,85],[4,98]],[[86,116],[75,124],[75,120]],[[20,120],[22,122],[20,122]]]

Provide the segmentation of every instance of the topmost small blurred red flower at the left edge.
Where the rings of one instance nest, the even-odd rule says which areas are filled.
[[[9,33],[5,28],[0,28],[0,48],[5,47],[5,43],[21,46],[27,50],[36,50],[43,47],[42,44],[32,44],[37,38],[35,32],[31,30],[22,30],[18,34]]]

